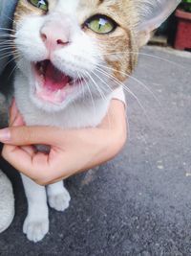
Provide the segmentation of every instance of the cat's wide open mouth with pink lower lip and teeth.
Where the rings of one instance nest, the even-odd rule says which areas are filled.
[[[74,87],[83,79],[74,79],[59,71],[50,60],[32,64],[35,77],[35,94],[38,99],[52,104],[61,104]]]

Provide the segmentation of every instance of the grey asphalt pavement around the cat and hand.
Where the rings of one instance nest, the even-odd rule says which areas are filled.
[[[71,206],[50,210],[42,243],[22,233],[23,187],[1,160],[16,215],[0,235],[0,255],[191,255],[191,55],[146,47],[134,77],[127,83],[138,97],[127,93],[127,146],[98,171],[67,180]]]

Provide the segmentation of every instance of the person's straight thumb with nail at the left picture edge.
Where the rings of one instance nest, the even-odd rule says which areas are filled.
[[[62,138],[61,128],[22,126],[0,129],[0,142],[14,146],[34,144],[58,146]]]

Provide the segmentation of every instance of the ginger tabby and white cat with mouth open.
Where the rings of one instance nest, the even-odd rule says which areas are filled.
[[[19,0],[13,17],[17,70],[14,97],[27,125],[96,127],[112,93],[138,62],[145,44],[179,1]],[[39,170],[40,172],[40,170]],[[23,231],[36,243],[49,231],[51,207],[64,211],[70,195],[22,175],[28,199]]]

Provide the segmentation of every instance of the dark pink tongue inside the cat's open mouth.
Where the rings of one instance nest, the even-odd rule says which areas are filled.
[[[47,67],[44,73],[44,87],[49,91],[57,91],[63,89],[71,81],[70,77],[57,70],[51,61],[47,63]]]

